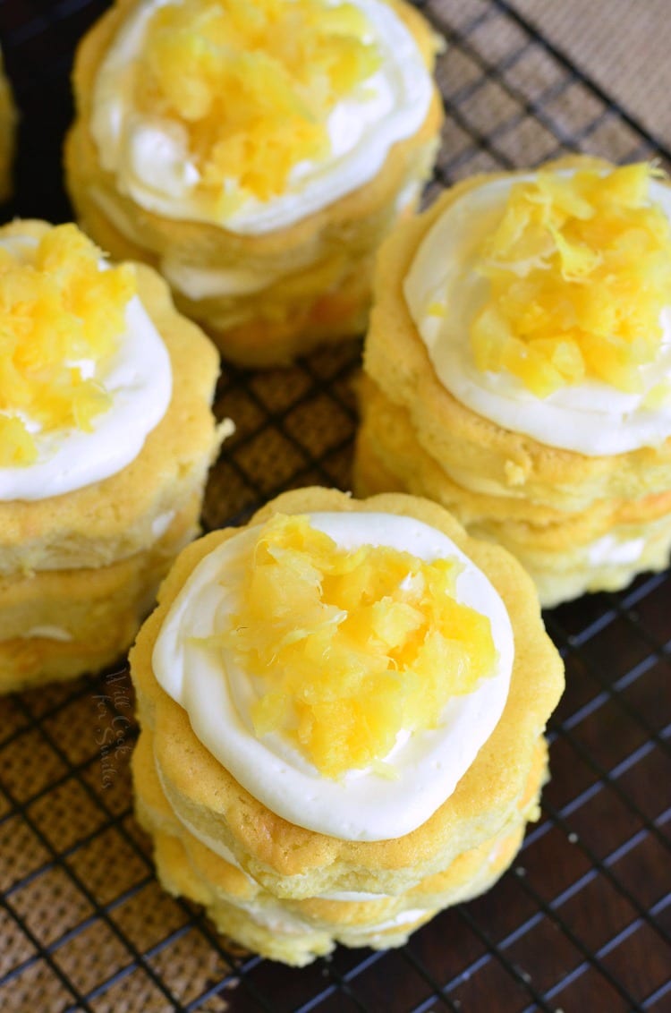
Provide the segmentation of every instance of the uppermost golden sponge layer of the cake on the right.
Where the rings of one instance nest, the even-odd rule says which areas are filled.
[[[572,164],[567,160],[567,164]],[[386,397],[408,411],[418,442],[464,488],[551,510],[640,499],[671,487],[671,440],[627,453],[585,457],[514,433],[468,408],[440,382],[404,295],[418,249],[464,193],[505,174],[475,176],[399,226],[378,260],[364,368]]]

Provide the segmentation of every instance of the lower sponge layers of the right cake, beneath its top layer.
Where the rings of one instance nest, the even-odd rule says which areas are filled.
[[[420,445],[408,413],[368,378],[354,485],[361,495],[394,490],[428,496],[476,538],[502,545],[532,576],[550,608],[588,591],[616,591],[642,570],[661,570],[671,549],[671,492],[601,500],[567,513],[464,488]]]

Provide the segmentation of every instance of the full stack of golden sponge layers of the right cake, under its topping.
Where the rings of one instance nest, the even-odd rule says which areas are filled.
[[[602,173],[612,168],[591,159],[562,165],[568,167],[560,173],[595,165]],[[602,413],[603,383],[593,385],[596,393],[586,395],[593,399],[592,407],[583,406],[573,420],[568,413],[558,415],[558,421],[544,424],[541,438],[524,432],[522,425],[515,431],[512,423],[488,416],[485,405],[493,399],[486,401],[485,393],[479,401],[482,410],[469,406],[448,389],[446,366],[438,375],[435,346],[429,347],[422,338],[409,308],[413,264],[441,222],[444,235],[445,223],[452,221],[449,216],[457,230],[454,246],[468,247],[480,225],[478,214],[474,219],[465,217],[460,207],[471,201],[477,210],[480,199],[473,194],[480,188],[492,190],[501,180],[518,178],[527,179],[529,174],[479,176],[457,184],[425,215],[401,226],[384,247],[365,345],[354,486],[361,495],[405,490],[442,503],[474,536],[511,551],[533,577],[541,604],[552,606],[585,591],[616,590],[636,573],[665,568],[671,548],[671,440],[668,410],[663,409],[667,417],[653,433],[651,423],[637,446],[636,439],[627,436],[637,424],[635,413],[617,414],[614,399],[619,392],[614,388],[610,388],[612,414]],[[664,190],[656,184],[657,194]],[[445,249],[436,267],[446,279],[470,262],[465,257],[455,263],[451,256],[452,249]],[[472,265],[474,277],[477,269]],[[458,298],[455,289],[451,298]],[[459,324],[458,315],[465,303],[466,297],[458,308],[448,302],[444,311],[438,310],[444,312],[455,335],[453,347],[458,349],[469,342],[468,320]],[[665,339],[657,369],[661,385],[667,382],[667,347]],[[474,390],[481,382],[484,387],[475,366],[468,370],[463,389],[468,384]],[[491,386],[494,389],[494,381]],[[520,406],[518,419],[521,407],[526,409],[533,400],[527,390],[504,396],[510,398],[509,404],[516,401]],[[647,409],[644,402],[640,417]],[[546,409],[546,399],[537,398],[533,410],[540,418],[544,410],[553,409]],[[562,446],[569,422],[574,431],[583,426],[580,450]],[[615,452],[615,440],[628,440],[630,449]],[[612,447],[606,446],[610,443]]]

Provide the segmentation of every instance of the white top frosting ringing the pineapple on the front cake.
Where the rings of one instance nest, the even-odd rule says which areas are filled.
[[[201,642],[225,628],[236,611],[258,528],[234,535],[190,574],[156,641],[154,673],[185,708],[202,745],[273,812],[341,840],[401,837],[425,823],[449,797],[494,730],[512,671],[510,621],[487,577],[450,539],[419,521],[386,514],[324,513],[311,515],[310,522],[341,549],[386,545],[427,562],[458,559],[463,569],[457,600],[491,622],[497,651],[494,675],[470,695],[450,700],[435,729],[399,734],[386,758],[397,775],[394,779],[364,769],[330,780],[280,734],[257,738],[250,717],[258,693],[253,673],[241,671],[231,652]]]

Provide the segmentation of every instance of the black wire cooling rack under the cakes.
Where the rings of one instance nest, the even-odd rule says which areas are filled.
[[[10,213],[68,217],[59,171],[67,71],[104,6],[0,0],[23,113]],[[568,150],[671,161],[514,5],[422,7],[449,45],[437,71],[448,115],[430,189]],[[347,487],[359,355],[350,342],[288,371],[225,368],[217,410],[238,432],[213,471],[207,527],[244,519],[290,486]],[[401,950],[341,948],[302,970],[239,952],[197,909],[159,889],[133,821],[124,669],[0,701],[0,1008],[671,1010],[670,606],[671,578],[660,575],[549,613],[567,692],[551,725],[542,816],[513,870]]]

